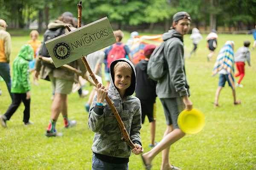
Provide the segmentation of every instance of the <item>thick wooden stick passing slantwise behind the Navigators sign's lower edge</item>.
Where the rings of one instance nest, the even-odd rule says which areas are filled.
[[[48,63],[54,65],[52,59],[49,58],[49,57],[39,57],[38,59],[39,59],[39,61],[41,60],[41,61],[43,61],[43,62],[48,62]],[[94,83],[91,79],[88,79],[87,76],[84,77],[84,74],[82,74],[78,69],[73,68],[72,66],[67,65],[67,64],[62,65],[60,68],[64,68],[64,69],[66,69],[66,70],[68,70],[68,71],[70,71],[70,72],[72,72],[72,73],[77,74],[78,76],[83,77],[83,79],[86,79],[91,85],[97,87],[97,86],[95,85],[95,83]]]

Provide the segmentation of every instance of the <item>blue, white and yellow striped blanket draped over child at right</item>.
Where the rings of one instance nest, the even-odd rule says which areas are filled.
[[[224,68],[229,74],[228,77],[232,85],[232,88],[235,89],[234,64],[235,64],[235,60],[234,60],[233,41],[227,41],[223,45],[223,47],[221,48],[221,51],[218,54],[218,57],[216,59],[216,62],[212,70],[212,77],[215,76],[218,73],[218,71],[221,71],[222,68]]]

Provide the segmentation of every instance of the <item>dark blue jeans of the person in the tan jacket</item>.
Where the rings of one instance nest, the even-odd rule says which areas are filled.
[[[6,82],[6,86],[13,101],[13,94],[11,93],[12,79],[10,74],[9,63],[0,62],[0,76],[3,77],[3,80]]]

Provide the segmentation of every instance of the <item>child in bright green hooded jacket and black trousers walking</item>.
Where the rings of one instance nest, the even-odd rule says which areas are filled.
[[[19,54],[15,58],[12,67],[12,88],[14,100],[4,115],[0,115],[0,123],[7,127],[6,120],[9,120],[19,107],[21,101],[25,105],[23,122],[24,126],[32,124],[29,122],[30,117],[30,80],[29,80],[29,61],[34,57],[34,50],[29,45],[23,45]]]

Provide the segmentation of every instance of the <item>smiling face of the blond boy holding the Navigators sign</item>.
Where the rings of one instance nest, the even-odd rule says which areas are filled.
[[[127,69],[116,70],[114,80],[114,84],[116,85],[119,93],[120,91],[125,92],[125,90],[131,85],[131,71]]]

